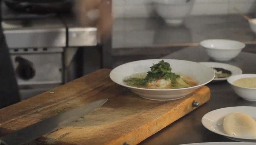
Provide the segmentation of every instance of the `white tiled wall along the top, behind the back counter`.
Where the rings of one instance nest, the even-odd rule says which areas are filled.
[[[112,0],[115,18],[154,16],[151,0]],[[236,7],[243,13],[256,11],[256,0],[195,0],[191,15],[234,14]]]

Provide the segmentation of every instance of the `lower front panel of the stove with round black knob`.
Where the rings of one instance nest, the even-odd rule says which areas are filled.
[[[62,48],[10,49],[22,99],[63,84]]]

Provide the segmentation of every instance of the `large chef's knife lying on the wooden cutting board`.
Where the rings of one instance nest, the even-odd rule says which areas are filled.
[[[75,121],[87,113],[93,112],[95,109],[102,106],[107,100],[108,99],[101,99],[99,101],[59,113],[58,115],[49,117],[48,119],[23,129],[11,132],[10,134],[0,138],[0,145],[20,145],[37,139],[46,133]]]

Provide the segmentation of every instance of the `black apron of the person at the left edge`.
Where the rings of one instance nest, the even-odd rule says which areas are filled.
[[[0,25],[0,108],[15,104],[19,101],[18,85],[15,79],[9,50],[6,46],[2,27]]]

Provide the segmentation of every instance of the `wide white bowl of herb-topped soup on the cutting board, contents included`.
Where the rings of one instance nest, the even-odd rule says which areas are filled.
[[[160,63],[163,65],[157,66]],[[171,69],[167,69],[166,63]],[[207,66],[176,59],[133,61],[110,72],[110,78],[116,84],[129,88],[142,98],[157,101],[182,98],[212,81],[214,76],[214,71]]]

